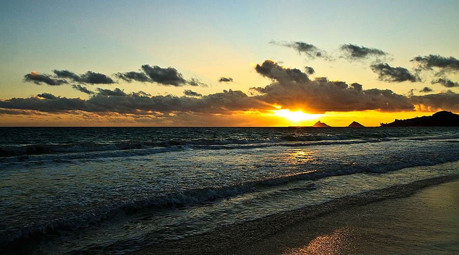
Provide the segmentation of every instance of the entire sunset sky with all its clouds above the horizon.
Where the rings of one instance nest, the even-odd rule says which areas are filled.
[[[1,126],[459,113],[459,2],[2,1]]]

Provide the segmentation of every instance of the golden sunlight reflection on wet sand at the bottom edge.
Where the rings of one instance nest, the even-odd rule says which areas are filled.
[[[330,234],[316,237],[306,246],[290,249],[283,255],[349,253],[355,247],[352,232],[349,228],[340,228]]]

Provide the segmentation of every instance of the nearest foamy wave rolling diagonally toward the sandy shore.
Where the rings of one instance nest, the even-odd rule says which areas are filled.
[[[400,161],[391,164],[351,164],[337,168],[295,173],[236,185],[181,190],[161,196],[145,197],[143,199],[120,203],[111,208],[101,208],[95,211],[85,212],[80,215],[72,214],[67,218],[55,219],[49,222],[41,222],[19,228],[11,227],[0,231],[0,244],[22,242],[24,239],[27,240],[31,236],[39,238],[42,235],[57,233],[59,231],[75,231],[79,228],[87,227],[90,224],[96,224],[107,219],[118,217],[119,215],[131,215],[143,210],[166,209],[183,205],[198,205],[200,203],[254,191],[266,191],[272,189],[279,191],[315,189],[317,186],[314,181],[328,176],[346,175],[359,172],[385,173],[406,167],[431,166],[457,160],[459,160],[459,156],[449,156],[443,158],[438,157],[429,160]],[[286,188],[286,184],[295,181],[310,182],[299,186],[293,185],[293,187],[290,185]]]

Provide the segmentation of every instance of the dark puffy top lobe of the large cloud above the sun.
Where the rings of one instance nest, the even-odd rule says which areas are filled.
[[[279,66],[272,60],[265,60],[261,65],[257,64],[255,70],[261,75],[277,81],[285,79],[295,82],[309,81],[308,74],[301,72],[301,70]]]

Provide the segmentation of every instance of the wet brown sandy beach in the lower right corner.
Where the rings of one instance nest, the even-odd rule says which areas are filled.
[[[400,197],[402,193],[411,195]],[[389,188],[386,194],[381,200],[367,192],[364,204],[344,197],[134,254],[459,253],[457,179],[425,180]]]

